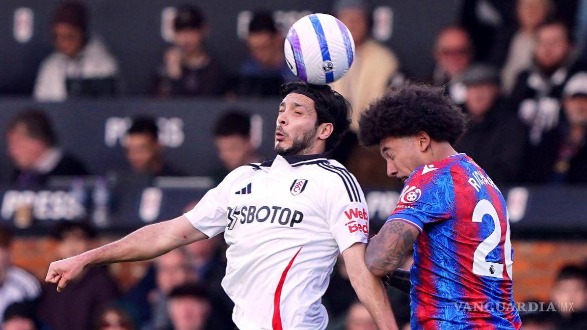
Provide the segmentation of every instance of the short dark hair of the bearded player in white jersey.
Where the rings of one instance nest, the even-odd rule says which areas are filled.
[[[332,134],[326,140],[326,150],[335,149],[340,143],[343,134],[350,126],[350,104],[338,92],[329,85],[311,85],[302,81],[285,83],[281,87],[281,97],[289,93],[299,92],[308,96],[314,101],[316,114],[316,126],[323,123],[332,123],[334,126]]]

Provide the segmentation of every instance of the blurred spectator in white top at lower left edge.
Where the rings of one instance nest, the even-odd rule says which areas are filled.
[[[0,227],[0,315],[15,302],[34,300],[41,295],[39,281],[22,268],[12,265],[11,248],[11,231]]]

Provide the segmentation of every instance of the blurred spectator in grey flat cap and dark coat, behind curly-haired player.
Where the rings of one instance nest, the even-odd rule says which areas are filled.
[[[467,88],[464,110],[470,123],[455,149],[475,159],[499,183],[518,180],[525,145],[524,125],[500,97],[500,77],[488,65],[463,73]]]

